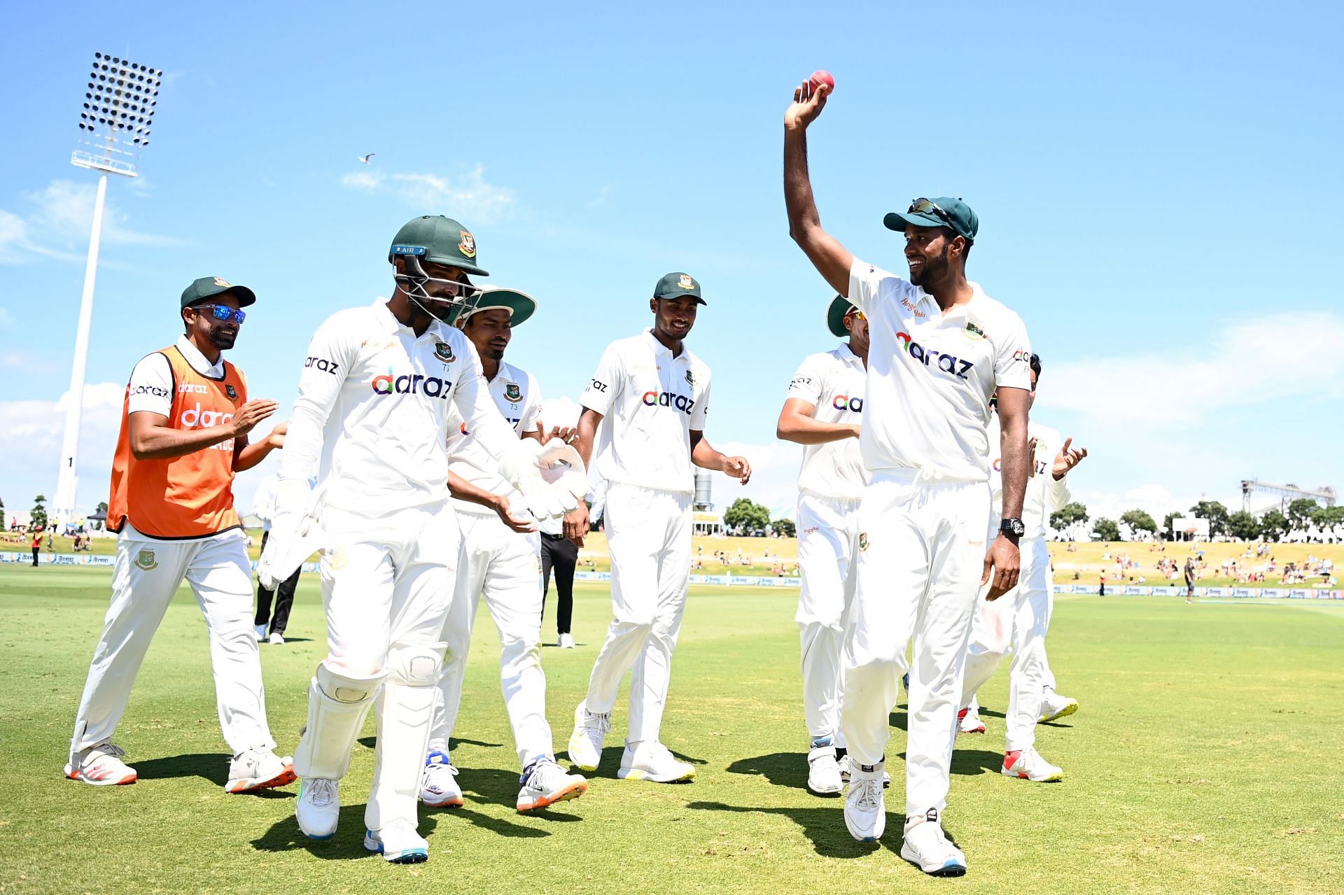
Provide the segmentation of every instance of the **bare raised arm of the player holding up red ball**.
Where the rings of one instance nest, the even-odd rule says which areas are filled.
[[[821,114],[829,95],[831,87],[820,85],[813,90],[810,81],[804,81],[784,113],[784,206],[789,212],[789,235],[831,288],[848,297],[853,255],[821,228],[808,176],[808,125]]]

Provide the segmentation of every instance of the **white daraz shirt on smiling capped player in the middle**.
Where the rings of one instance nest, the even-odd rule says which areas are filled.
[[[703,431],[710,368],[652,329],[606,347],[579,403],[603,415],[594,466],[607,481],[695,493],[691,431]]]

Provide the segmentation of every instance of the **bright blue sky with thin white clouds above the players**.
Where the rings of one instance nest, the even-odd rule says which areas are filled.
[[[288,406],[316,325],[387,294],[391,235],[434,212],[473,230],[491,282],[538,297],[509,359],[548,396],[577,396],[603,345],[648,323],[661,274],[695,274],[708,435],[759,469],[715,497],[788,507],[798,449],[774,419],[798,360],[833,343],[781,196],[784,110],[818,67],[837,81],[810,132],[824,224],[903,273],[886,211],[974,207],[970,275],[1025,320],[1035,415],[1090,449],[1074,491],[1094,515],[1239,505],[1243,477],[1344,485],[1333,5],[323,8],[142,4],[133,28],[59,31],[44,8],[5,12],[7,508],[55,489],[94,51],[167,78],[142,177],[109,184],[81,505],[103,499],[121,387],[176,337],[187,282],[258,292],[231,359]]]

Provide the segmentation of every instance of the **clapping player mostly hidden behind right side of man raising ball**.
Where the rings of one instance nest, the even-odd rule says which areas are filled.
[[[1031,356],[1031,394],[1028,407],[1036,402],[1036,383],[1040,378],[1040,357]],[[997,426],[991,426],[993,434]],[[1086,448],[1074,448],[1073,439],[1060,439],[1048,426],[1032,422],[1027,427],[1031,470],[1023,499],[1021,517],[1027,527],[1021,540],[1021,575],[1017,586],[993,602],[981,601],[976,609],[966,650],[966,672],[962,681],[958,724],[962,732],[984,732],[978,712],[970,706],[980,688],[999,668],[1000,660],[1012,649],[1008,672],[1007,747],[1000,769],[1007,777],[1036,782],[1063,779],[1062,769],[1051,765],[1036,751],[1036,722],[1042,716],[1046,693],[1046,632],[1054,607],[1054,577],[1050,571],[1050,548],[1046,544],[1046,520],[1050,513],[1068,503],[1068,484],[1064,477],[1087,456]],[[1003,500],[1003,489],[996,481],[1001,460],[993,439],[991,445],[992,501]],[[989,515],[991,528],[999,525],[999,516]],[[1054,681],[1048,681],[1051,685]],[[1077,706],[1077,703],[1075,703]]]

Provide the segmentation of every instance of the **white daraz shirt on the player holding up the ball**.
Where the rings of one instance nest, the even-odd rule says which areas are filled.
[[[970,288],[943,313],[919,286],[853,259],[849,301],[868,318],[859,448],[870,472],[989,478],[989,398],[997,386],[1031,388],[1031,344],[1017,314]]]

